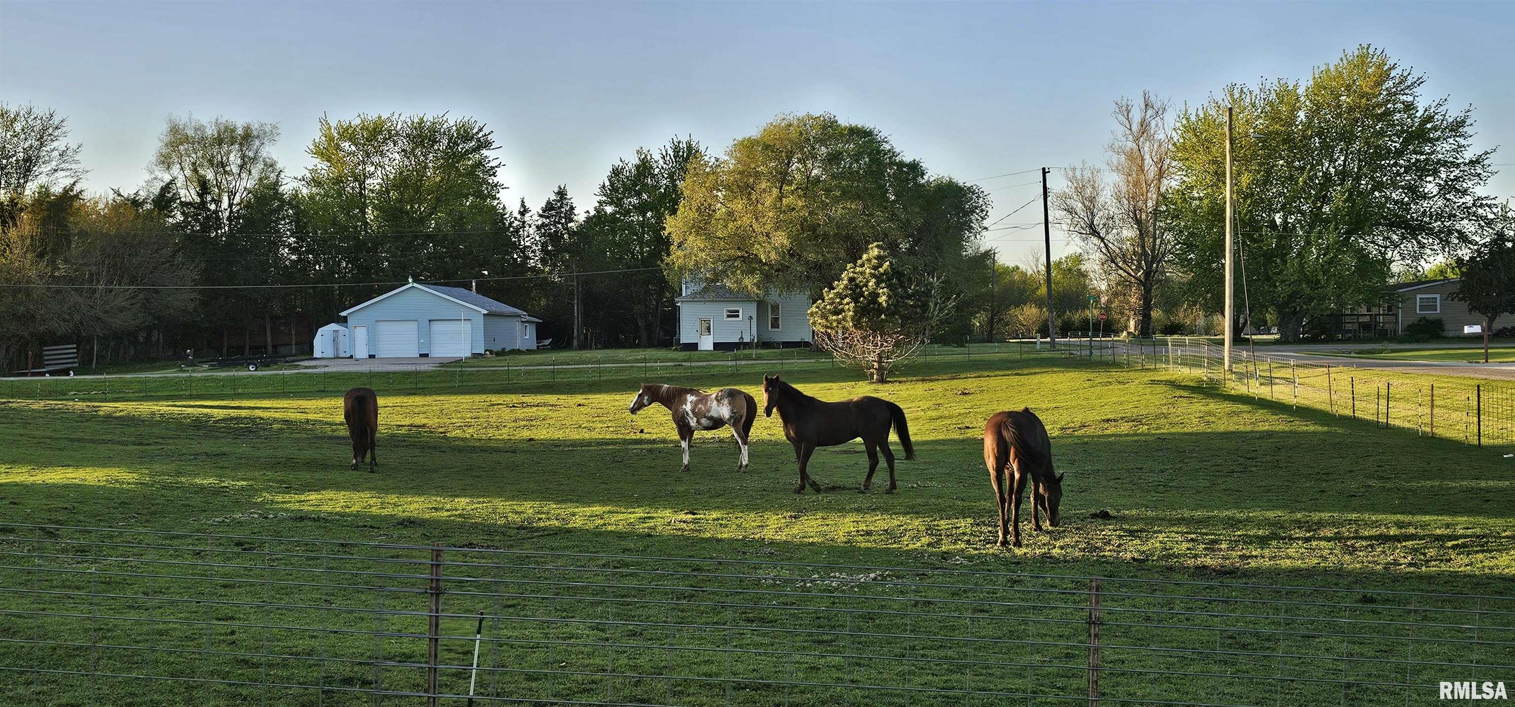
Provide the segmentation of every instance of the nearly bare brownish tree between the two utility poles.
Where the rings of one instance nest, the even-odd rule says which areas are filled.
[[[1117,100],[1114,115],[1120,127],[1106,147],[1112,180],[1088,165],[1070,170],[1054,206],[1112,285],[1130,292],[1136,333],[1151,336],[1153,297],[1173,256],[1173,238],[1157,224],[1168,182],[1168,101],[1144,91],[1139,106]]]

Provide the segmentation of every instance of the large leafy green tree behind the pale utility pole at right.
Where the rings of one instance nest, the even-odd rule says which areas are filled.
[[[1473,150],[1471,109],[1424,101],[1424,82],[1364,45],[1307,83],[1230,85],[1186,109],[1164,213],[1194,297],[1215,310],[1224,289],[1226,106],[1235,107],[1238,271],[1251,307],[1270,310],[1285,341],[1298,341],[1312,316],[1382,303],[1397,262],[1476,242],[1492,213],[1479,191],[1492,150]]]

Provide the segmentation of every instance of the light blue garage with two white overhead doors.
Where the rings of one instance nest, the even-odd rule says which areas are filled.
[[[477,292],[409,283],[341,312],[355,359],[465,357],[536,348],[541,319]]]

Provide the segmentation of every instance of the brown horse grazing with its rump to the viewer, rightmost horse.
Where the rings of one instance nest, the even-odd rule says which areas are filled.
[[[1062,474],[1051,469],[1051,439],[1047,427],[1029,407],[1021,412],[997,412],[983,425],[983,465],[989,468],[994,500],[1000,504],[1000,547],[1004,547],[1004,512],[1009,506],[1012,545],[1021,547],[1021,494],[1026,478],[1032,481],[1032,525],[1041,531],[1038,510],[1047,512],[1047,522],[1057,527],[1057,506],[1062,504]],[[1014,487],[1011,474],[1015,474]]]

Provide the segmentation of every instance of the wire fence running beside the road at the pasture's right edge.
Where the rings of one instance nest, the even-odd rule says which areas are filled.
[[[1515,385],[1306,362],[1223,348],[1200,338],[1068,341],[1060,351],[1110,365],[1194,372],[1257,401],[1314,409],[1467,445],[1515,444]]]

